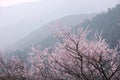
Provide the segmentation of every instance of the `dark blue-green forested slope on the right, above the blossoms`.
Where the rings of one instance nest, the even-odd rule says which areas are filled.
[[[109,8],[106,13],[99,13],[92,20],[86,20],[81,24],[92,31],[102,31],[103,38],[114,47],[120,40],[120,5]]]

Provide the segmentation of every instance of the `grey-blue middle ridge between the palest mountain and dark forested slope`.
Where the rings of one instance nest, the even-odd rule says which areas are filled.
[[[39,28],[38,30],[32,32],[31,34],[29,34],[28,36],[26,36],[19,42],[17,42],[16,47],[19,47],[20,49],[23,47],[25,48],[25,46],[28,44],[29,44],[28,47],[30,47],[30,46],[36,45],[37,43],[41,43],[48,36],[52,35],[53,29],[55,28],[55,26],[59,24],[67,25],[67,26],[73,26],[73,25],[78,25],[78,24],[80,25],[85,19],[92,19],[93,16],[95,16],[95,14],[69,15],[69,16],[64,16],[54,21],[51,21],[47,23],[46,25],[42,26],[41,28]]]

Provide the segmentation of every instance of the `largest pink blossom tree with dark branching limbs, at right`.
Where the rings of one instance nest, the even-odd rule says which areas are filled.
[[[68,80],[120,79],[119,45],[112,49],[101,34],[87,39],[88,33],[82,28],[58,33],[61,43],[52,54],[53,68]]]

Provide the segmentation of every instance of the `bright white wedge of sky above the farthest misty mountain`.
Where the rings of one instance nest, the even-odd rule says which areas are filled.
[[[0,0],[0,6],[6,7],[11,5],[16,5],[20,3],[36,2],[38,0]]]

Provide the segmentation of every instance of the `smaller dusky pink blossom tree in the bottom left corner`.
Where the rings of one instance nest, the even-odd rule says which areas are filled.
[[[27,80],[28,71],[27,64],[18,56],[0,54],[0,80]]]

